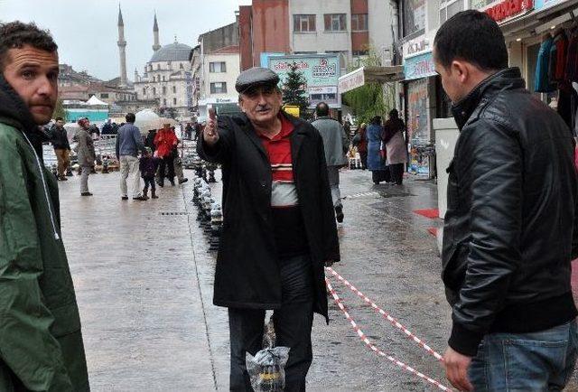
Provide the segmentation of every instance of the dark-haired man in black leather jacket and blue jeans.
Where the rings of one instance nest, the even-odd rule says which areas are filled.
[[[447,377],[460,390],[561,389],[577,345],[573,136],[508,68],[489,15],[444,23],[433,60],[461,132],[443,236]]]

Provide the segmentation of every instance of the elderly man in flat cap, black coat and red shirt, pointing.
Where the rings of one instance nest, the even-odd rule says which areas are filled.
[[[321,135],[281,110],[278,82],[272,70],[242,72],[243,115],[211,119],[197,146],[223,171],[213,302],[228,307],[231,390],[251,390],[245,356],[261,349],[267,309],[291,348],[285,388],[305,389],[313,313],[329,322],[323,266],[340,259]]]

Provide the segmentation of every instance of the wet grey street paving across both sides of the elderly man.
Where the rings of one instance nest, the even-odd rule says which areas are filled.
[[[118,173],[90,176],[91,198],[79,196],[76,176],[60,184],[92,389],[228,390],[227,312],[212,305],[215,253],[198,226],[191,182],[165,186],[155,201],[120,201]],[[211,188],[219,201],[221,183]],[[436,186],[374,185],[356,170],[341,173],[340,188],[345,221],[335,270],[443,354],[450,308],[428,232],[442,221],[414,212],[436,208]],[[330,280],[378,349],[447,385],[433,356]],[[330,317],[329,326],[318,315],[313,322],[308,390],[438,390],[369,350],[331,298]]]

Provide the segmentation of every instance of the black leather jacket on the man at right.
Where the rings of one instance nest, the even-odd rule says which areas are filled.
[[[475,355],[489,332],[542,331],[576,315],[574,141],[517,68],[452,110],[461,134],[448,168],[442,275],[450,346]]]

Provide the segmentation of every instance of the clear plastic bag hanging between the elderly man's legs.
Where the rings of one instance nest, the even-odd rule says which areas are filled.
[[[285,365],[289,359],[288,347],[260,350],[253,357],[247,352],[247,372],[251,387],[256,392],[283,391],[285,387]]]

